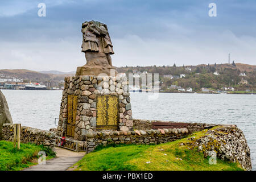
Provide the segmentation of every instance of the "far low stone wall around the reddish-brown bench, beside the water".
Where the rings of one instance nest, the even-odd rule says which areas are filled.
[[[152,122],[172,122],[177,123],[174,121],[159,121],[159,120],[147,120],[147,119],[133,119],[133,129],[134,130],[151,130],[152,129]],[[187,122],[186,122],[187,123]],[[187,123],[188,127],[186,127],[189,133],[193,133],[195,131],[204,130],[206,126],[211,126],[213,124],[207,123]]]

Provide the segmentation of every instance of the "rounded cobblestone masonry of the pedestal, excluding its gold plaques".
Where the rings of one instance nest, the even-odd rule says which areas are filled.
[[[75,76],[65,77],[63,97],[60,104],[57,135],[65,136],[67,130],[68,95],[76,95],[77,117],[75,140],[85,140],[88,131],[96,131],[96,96],[119,96],[119,127],[123,130],[133,129],[133,117],[130,93],[126,89],[126,77],[109,76]],[[124,90],[126,89],[126,90]],[[127,92],[126,92],[127,91]]]

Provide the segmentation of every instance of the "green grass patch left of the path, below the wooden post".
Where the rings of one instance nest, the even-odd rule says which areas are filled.
[[[35,144],[20,143],[20,150],[13,147],[13,142],[0,141],[0,171],[19,171],[36,163],[32,158],[38,158],[39,151],[46,151],[47,159],[55,156],[48,148],[36,146]]]

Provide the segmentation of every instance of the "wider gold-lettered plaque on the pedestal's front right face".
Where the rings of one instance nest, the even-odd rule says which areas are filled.
[[[97,130],[117,130],[118,113],[118,96],[96,97]]]

